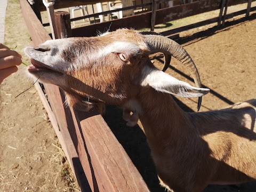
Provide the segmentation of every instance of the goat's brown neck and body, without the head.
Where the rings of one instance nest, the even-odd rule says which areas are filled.
[[[170,95],[150,88],[138,99],[140,120],[165,186],[174,191],[202,191],[209,184],[256,179],[256,100],[187,114]],[[246,114],[251,118],[246,119]]]

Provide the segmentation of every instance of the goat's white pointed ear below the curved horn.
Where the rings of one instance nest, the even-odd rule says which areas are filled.
[[[157,91],[178,95],[180,97],[202,97],[209,93],[209,89],[198,88],[186,82],[179,81],[163,71],[151,70],[143,79],[142,86],[151,86]]]

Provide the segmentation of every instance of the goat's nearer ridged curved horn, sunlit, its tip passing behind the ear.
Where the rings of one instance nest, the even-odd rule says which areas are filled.
[[[145,35],[145,42],[147,43],[151,53],[162,52],[164,54],[172,55],[174,58],[178,59],[186,68],[189,70],[191,76],[197,87],[201,87],[201,80],[196,68],[194,61],[191,59],[190,55],[187,53],[183,47],[161,35]],[[200,109],[202,103],[202,97],[198,98],[197,110]]]

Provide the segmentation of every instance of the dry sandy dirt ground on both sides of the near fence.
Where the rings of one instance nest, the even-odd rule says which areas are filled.
[[[211,89],[203,97],[201,111],[225,108],[256,94],[256,13],[246,19],[232,19],[221,29],[210,27],[185,31],[177,39],[194,59],[203,86]],[[20,53],[30,46],[17,0],[9,1],[5,28],[7,46],[17,45]],[[162,66],[161,54],[152,60]],[[28,63],[24,55],[23,61]],[[33,83],[25,71],[21,65],[0,87],[0,191],[79,191],[35,88],[15,98]],[[188,71],[174,59],[166,73],[193,84]],[[183,110],[196,110],[196,99],[177,98],[177,102]],[[158,185],[140,124],[126,127],[121,114],[121,110],[108,106],[104,118],[150,190],[164,191]],[[256,191],[256,184],[209,186],[204,190],[210,191],[251,192]]]

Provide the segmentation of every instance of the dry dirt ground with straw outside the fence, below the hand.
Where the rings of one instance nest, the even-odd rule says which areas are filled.
[[[31,46],[18,0],[8,1],[5,44]],[[26,66],[0,86],[0,191],[79,191]],[[74,188],[74,189],[73,189]]]

